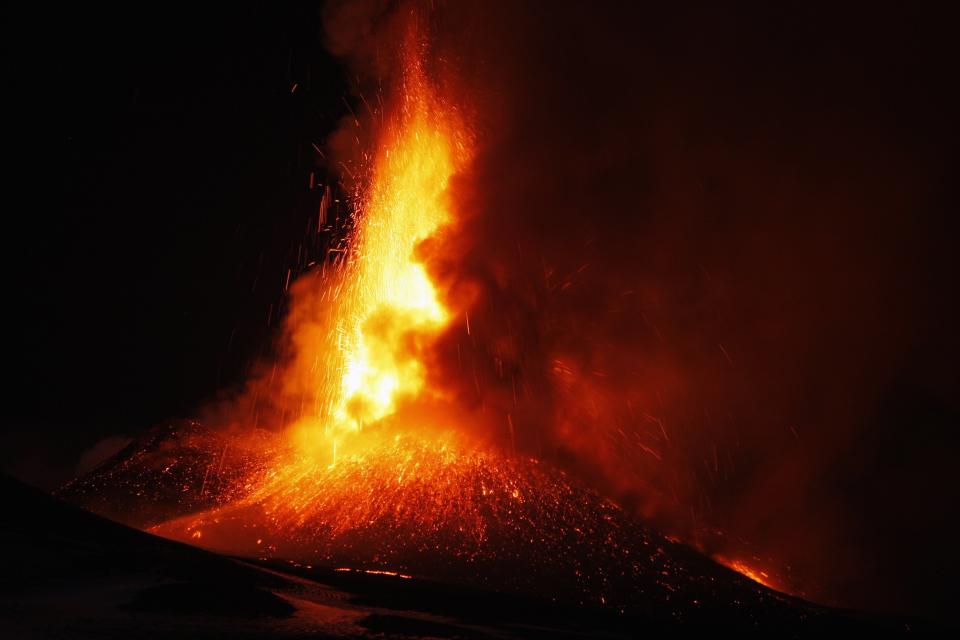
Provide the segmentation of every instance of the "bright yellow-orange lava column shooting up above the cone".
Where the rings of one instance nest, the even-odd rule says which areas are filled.
[[[447,187],[468,159],[469,136],[434,91],[416,45],[403,62],[347,259],[334,277],[300,287],[291,313],[296,355],[286,384],[309,401],[293,433],[301,449],[331,463],[400,403],[435,394],[425,388],[423,352],[450,317],[417,254],[452,221]]]

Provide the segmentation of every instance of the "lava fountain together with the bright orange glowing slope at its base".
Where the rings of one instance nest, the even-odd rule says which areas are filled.
[[[423,257],[455,221],[448,187],[469,163],[472,136],[428,78],[422,49],[411,29],[346,246],[331,269],[293,288],[293,353],[273,399],[296,408],[282,454],[245,479],[242,499],[155,531],[234,553],[287,543],[298,556],[305,541],[353,547],[346,541],[358,529],[384,518],[415,524],[424,537],[424,528],[452,527],[482,541],[483,498],[528,495],[513,463],[456,424],[455,403],[428,383],[429,349],[454,311]],[[211,531],[230,519],[256,530],[256,542]],[[329,544],[326,554],[336,556]]]

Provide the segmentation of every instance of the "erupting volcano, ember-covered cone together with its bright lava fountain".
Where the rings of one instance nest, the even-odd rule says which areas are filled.
[[[551,585],[551,599],[620,611],[781,602],[518,451],[509,412],[508,437],[490,433],[482,403],[461,406],[464,382],[431,369],[445,336],[475,340],[475,296],[435,279],[457,259],[440,254],[458,224],[451,183],[469,166],[474,134],[429,77],[428,45],[411,24],[399,77],[373,114],[351,231],[293,285],[288,357],[252,385],[283,417],[279,435],[183,425],[63,495],[104,510],[96,497],[106,487],[139,487],[134,499],[150,508],[128,522],[232,555],[527,594]],[[187,432],[193,448],[163,453]],[[158,472],[139,480],[148,468]]]

